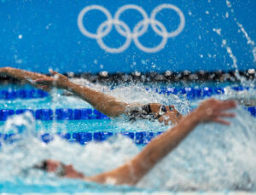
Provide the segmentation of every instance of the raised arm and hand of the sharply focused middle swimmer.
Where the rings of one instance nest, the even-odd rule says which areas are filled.
[[[128,104],[117,100],[113,96],[105,95],[95,89],[73,83],[58,72],[50,72],[54,77],[35,80],[35,83],[41,86],[41,89],[48,90],[53,86],[58,89],[67,89],[71,91],[73,95],[79,96],[81,99],[90,103],[90,105],[94,106],[98,111],[108,115],[108,117],[118,117],[125,112],[125,108],[128,106]]]

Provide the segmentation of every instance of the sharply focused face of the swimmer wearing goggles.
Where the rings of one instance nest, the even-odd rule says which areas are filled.
[[[160,123],[165,123],[166,125],[177,123],[182,115],[177,112],[174,106],[163,106],[158,103],[150,104],[151,110],[154,116],[158,118]]]

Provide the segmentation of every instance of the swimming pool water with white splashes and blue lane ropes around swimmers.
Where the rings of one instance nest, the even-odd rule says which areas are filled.
[[[95,87],[102,88],[102,86]],[[181,93],[177,95],[164,93],[165,87],[168,85],[152,87],[133,84],[119,85],[112,89],[105,86],[103,90],[126,102],[172,103],[183,114],[190,112],[198,104],[198,100],[203,99],[200,97],[195,100],[191,95],[189,98],[189,95],[186,96],[182,93],[183,89],[190,91],[189,87],[191,86],[186,86],[187,89],[184,86],[178,86],[177,90]],[[195,86],[193,87],[196,89]],[[218,87],[224,88],[225,85],[215,86],[215,88]],[[3,88],[3,90],[5,89],[7,87]],[[11,86],[11,89],[31,90],[27,87],[19,89],[16,86]],[[255,95],[255,89],[244,92],[247,93],[247,97]],[[73,110],[73,117],[76,109],[91,109],[91,106],[83,100],[61,95],[61,93],[61,91],[53,91],[51,96],[45,95],[40,98],[33,97],[23,100],[20,98],[2,99],[1,105],[5,109],[15,110],[15,112],[18,109],[31,109],[34,113],[43,108],[53,111],[69,108]],[[205,96],[210,95],[207,93]],[[229,99],[238,95],[237,91],[228,88],[226,88],[225,95],[216,96],[217,93],[214,94],[218,99]],[[254,166],[256,158],[253,153],[256,149],[256,120],[244,106],[239,106],[236,109],[236,114],[237,117],[232,119],[231,127],[204,124],[196,128],[172,154],[159,163],[135,187],[98,185],[84,181],[60,179],[55,175],[31,169],[31,167],[45,158],[53,158],[64,163],[73,163],[75,168],[83,171],[85,175],[100,173],[113,169],[136,155],[152,137],[166,131],[166,126],[150,121],[129,123],[125,118],[97,119],[96,114],[87,119],[61,119],[61,116],[68,118],[68,110],[61,110],[59,115],[56,114],[55,117],[59,116],[59,119],[56,118],[56,120],[49,120],[47,114],[43,120],[34,120],[30,114],[16,115],[15,118],[0,123],[0,130],[4,135],[20,132],[18,136],[6,139],[7,142],[1,146],[1,191],[14,193],[160,193],[162,191],[223,192],[226,190],[227,192],[227,190],[246,190],[254,192],[256,189]],[[111,135],[108,141],[106,138],[109,134],[106,135],[106,133]],[[10,144],[10,142],[12,143]]]

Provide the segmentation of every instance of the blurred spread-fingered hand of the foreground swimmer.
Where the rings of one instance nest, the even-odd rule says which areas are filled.
[[[235,113],[226,112],[236,107],[235,100],[215,100],[209,99],[201,103],[195,110],[196,116],[201,123],[222,123],[224,125],[230,125],[230,122],[223,118],[234,118]]]

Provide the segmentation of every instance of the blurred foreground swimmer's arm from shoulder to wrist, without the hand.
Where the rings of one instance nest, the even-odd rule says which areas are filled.
[[[189,114],[175,127],[151,141],[142,152],[128,163],[101,175],[84,178],[84,180],[115,185],[137,184],[156,163],[166,157],[169,152],[172,152],[199,122],[195,112]]]

